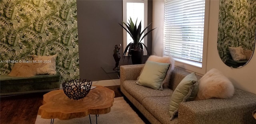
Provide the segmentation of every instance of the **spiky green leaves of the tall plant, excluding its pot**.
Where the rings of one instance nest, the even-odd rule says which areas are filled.
[[[156,28],[154,28],[143,35],[144,31],[146,31],[146,29],[152,24],[152,22],[142,31],[141,30],[141,21],[140,21],[140,24],[137,26],[137,20],[136,20],[135,24],[132,21],[132,18],[130,18],[130,20],[128,20],[129,23],[127,23],[127,24],[123,22],[123,24],[126,26],[127,29],[124,26],[122,26],[121,24],[119,24],[120,26],[122,26],[124,28],[124,30],[126,30],[129,33],[129,35],[133,39],[133,41],[130,42],[126,46],[126,48],[124,50],[124,54],[123,54],[123,59],[124,59],[125,55],[128,51],[128,61],[129,61],[129,58],[132,56],[131,49],[142,49],[142,51],[143,51],[143,46],[144,46],[144,48],[147,50],[147,53],[148,53],[148,47],[141,41],[142,41],[142,39],[144,39],[144,37],[146,37],[146,35],[148,35],[148,33],[153,31],[154,29],[156,29]],[[148,53],[148,55],[150,55],[150,54]]]

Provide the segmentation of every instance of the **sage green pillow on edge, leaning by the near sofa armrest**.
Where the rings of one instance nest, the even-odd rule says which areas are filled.
[[[198,92],[198,82],[195,73],[184,77],[172,93],[169,105],[171,120],[178,115],[178,105],[180,102],[194,100]]]

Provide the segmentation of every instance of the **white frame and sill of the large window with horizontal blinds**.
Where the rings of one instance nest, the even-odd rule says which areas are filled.
[[[165,8],[164,1],[164,8]],[[203,38],[203,53],[202,53],[202,63],[196,61],[190,61],[185,59],[180,59],[178,57],[174,57],[175,66],[181,67],[186,70],[190,70],[196,72],[198,74],[204,75],[206,73],[206,61],[207,61],[207,47],[208,47],[208,28],[209,28],[209,10],[210,10],[210,0],[205,0],[205,11],[204,11],[204,38]],[[165,21],[165,20],[164,20]],[[164,27],[165,28],[165,27]],[[163,37],[164,41],[164,37]],[[164,43],[163,43],[163,55],[164,55]],[[166,55],[164,55],[166,56]]]

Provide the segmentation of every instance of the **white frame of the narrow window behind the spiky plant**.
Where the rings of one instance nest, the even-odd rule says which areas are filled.
[[[148,0],[123,0],[123,22],[127,24],[127,3],[144,3],[144,28],[148,26]],[[147,32],[148,29],[145,30]],[[148,46],[148,38],[144,37],[144,44]],[[123,29],[123,50],[125,50],[127,43],[127,31]],[[143,49],[143,55],[147,55],[146,49]],[[128,56],[128,52],[125,56]]]

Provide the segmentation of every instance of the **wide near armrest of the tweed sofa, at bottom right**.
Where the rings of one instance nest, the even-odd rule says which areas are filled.
[[[256,95],[236,89],[230,99],[182,102],[178,107],[180,124],[256,124],[252,116]]]

